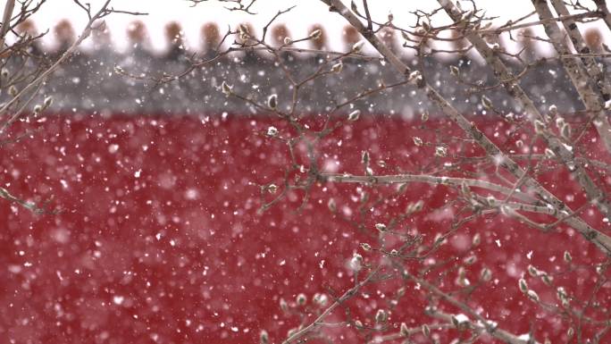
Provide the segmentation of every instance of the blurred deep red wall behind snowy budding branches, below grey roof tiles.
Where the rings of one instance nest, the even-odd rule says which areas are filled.
[[[341,213],[350,209],[354,216],[356,185],[315,186],[300,214],[298,194],[257,214],[261,199],[256,184],[280,184],[288,161],[285,146],[262,135],[271,123],[286,133],[274,121],[231,114],[224,119],[72,115],[15,126],[15,132],[42,130],[0,147],[0,182],[22,197],[40,201],[53,196],[52,204],[63,212],[35,215],[0,202],[0,342],[246,343],[256,342],[260,329],[280,342],[298,318],[282,315],[279,299],[292,301],[300,292],[308,298],[329,290],[339,294],[352,286],[346,263],[359,242],[374,244],[373,223],[388,221],[388,214],[422,199],[426,211],[406,220],[403,228],[422,233],[429,243],[448,228],[453,213],[442,206],[454,191],[423,184],[412,184],[405,195],[376,206],[364,231],[327,208],[333,197]],[[502,135],[509,129],[506,122],[480,125],[489,134],[500,132],[497,140],[503,147],[513,144],[515,138],[505,141]],[[329,154],[328,166],[341,162],[339,172],[361,173],[364,149],[374,162],[386,162],[386,168],[373,165],[377,173],[418,172],[438,164],[433,148],[414,147],[412,135],[434,141],[462,134],[439,120],[421,126],[364,118],[339,128],[321,150]],[[456,143],[452,152],[458,149],[481,154],[469,143]],[[606,177],[597,178],[608,185]],[[565,172],[552,170],[541,180],[571,206],[582,204],[582,193]],[[368,190],[373,198],[394,188]],[[584,218],[602,227],[597,213],[590,213]],[[455,265],[453,257],[464,257],[465,243],[475,232],[481,233],[482,244],[467,276],[477,280],[485,265],[493,280],[473,294],[473,306],[481,306],[483,315],[508,331],[526,333],[533,326],[539,340],[544,335],[554,342],[563,338],[567,322],[523,296],[517,280],[528,264],[548,273],[565,272],[562,255],[568,249],[576,267],[558,273],[555,283],[585,299],[595,275],[588,264],[603,257],[565,227],[546,234],[487,216],[466,223],[435,259]],[[374,255],[364,256],[376,262]],[[442,270],[427,278],[434,281]],[[441,288],[455,288],[455,278],[450,268],[448,276],[439,277],[445,283]],[[542,300],[557,304],[555,289],[528,281]],[[396,289],[396,282],[373,285],[364,290],[369,298],[348,306],[367,322]],[[609,304],[608,283],[598,295],[603,305]],[[419,306],[424,304],[423,290],[409,284],[390,323],[430,322]],[[591,331],[589,325],[584,329]],[[357,335],[340,333],[345,337],[338,342],[351,342]]]

